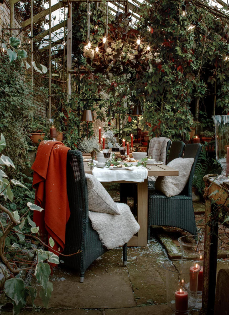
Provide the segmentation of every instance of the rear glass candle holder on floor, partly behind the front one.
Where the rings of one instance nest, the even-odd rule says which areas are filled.
[[[178,238],[182,250],[182,259],[191,259],[201,266],[198,275],[197,298],[195,309],[201,309],[204,271],[204,236],[198,240],[197,235],[186,235]]]

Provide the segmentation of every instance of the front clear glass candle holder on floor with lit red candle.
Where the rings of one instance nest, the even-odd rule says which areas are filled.
[[[200,266],[194,261],[175,259],[165,261],[166,297],[173,315],[190,314],[196,305]]]

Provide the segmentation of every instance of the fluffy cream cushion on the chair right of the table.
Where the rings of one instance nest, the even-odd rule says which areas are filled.
[[[179,195],[188,182],[193,162],[193,157],[178,157],[172,160],[167,166],[179,170],[179,176],[158,176],[155,189],[163,192],[166,197]]]

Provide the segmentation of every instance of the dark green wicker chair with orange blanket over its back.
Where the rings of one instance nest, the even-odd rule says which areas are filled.
[[[64,257],[64,266],[80,271],[80,282],[91,263],[108,249],[103,246],[98,233],[93,230],[88,217],[87,183],[80,151],[70,150],[67,154],[67,192],[70,218],[66,225],[65,249],[63,254],[81,253]],[[123,246],[123,264],[127,263],[127,244]]]

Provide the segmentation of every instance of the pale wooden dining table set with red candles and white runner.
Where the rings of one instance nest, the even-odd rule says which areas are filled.
[[[84,162],[85,173],[92,174],[88,162]],[[179,171],[167,165],[147,165],[148,176],[178,176]],[[122,172],[129,172],[124,170]],[[135,181],[112,181],[116,183],[137,183]],[[147,224],[148,221],[148,179],[137,183],[137,222],[140,230],[134,235],[127,246],[147,246]]]

